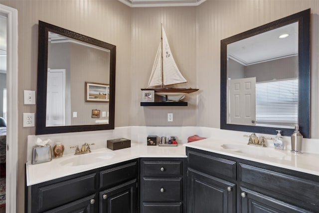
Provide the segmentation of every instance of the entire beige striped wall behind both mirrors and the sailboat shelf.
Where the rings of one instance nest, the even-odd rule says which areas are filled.
[[[316,0],[207,0],[197,7],[129,8],[117,0],[0,0],[18,10],[19,136],[18,212],[24,212],[26,137],[22,128],[23,90],[36,90],[37,23],[49,22],[117,46],[115,126],[203,126],[219,128],[220,40],[278,18],[312,9],[311,136],[319,138],[319,2]],[[164,24],[176,63],[200,89],[188,107],[141,107]],[[167,123],[167,112],[174,122]]]

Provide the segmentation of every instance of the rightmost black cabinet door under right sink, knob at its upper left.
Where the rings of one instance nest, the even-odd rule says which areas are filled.
[[[241,188],[242,213],[311,213],[263,194]]]

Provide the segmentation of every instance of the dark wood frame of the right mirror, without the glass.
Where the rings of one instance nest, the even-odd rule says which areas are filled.
[[[298,123],[305,138],[310,137],[310,9],[289,15],[254,29],[221,40],[220,56],[220,128],[227,130],[255,132],[275,135],[278,127],[261,127],[227,124],[227,44],[242,40],[293,22],[298,22],[298,60],[299,60],[299,101]],[[283,135],[290,136],[294,129],[280,128]]]

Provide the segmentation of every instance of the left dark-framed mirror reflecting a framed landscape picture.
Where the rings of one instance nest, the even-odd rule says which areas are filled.
[[[39,21],[36,135],[114,129],[116,46]]]

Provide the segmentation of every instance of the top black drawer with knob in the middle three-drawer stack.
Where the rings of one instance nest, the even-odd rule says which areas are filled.
[[[144,177],[176,177],[183,173],[182,161],[142,161],[141,167]]]

